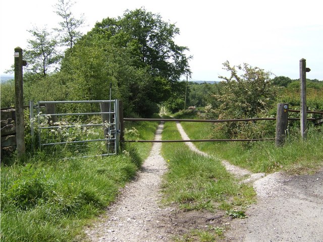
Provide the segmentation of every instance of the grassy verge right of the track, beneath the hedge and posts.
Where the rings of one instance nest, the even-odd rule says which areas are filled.
[[[182,122],[191,139],[209,138],[211,124]],[[229,160],[232,164],[252,172],[271,173],[284,170],[289,173],[310,173],[323,165],[323,135],[321,128],[310,128],[307,139],[300,140],[296,130],[290,131],[284,147],[274,142],[200,142],[195,145],[202,151]]]

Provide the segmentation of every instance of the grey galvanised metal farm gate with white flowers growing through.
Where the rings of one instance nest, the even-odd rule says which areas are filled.
[[[89,110],[91,110],[89,112]],[[119,100],[30,101],[31,137],[40,149],[69,157],[117,154],[120,139]]]

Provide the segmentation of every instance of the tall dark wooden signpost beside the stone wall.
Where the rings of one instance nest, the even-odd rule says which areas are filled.
[[[23,72],[26,64],[22,59],[22,48],[15,48],[15,98],[16,98],[16,139],[18,157],[25,154],[25,124],[24,124],[24,96]],[[25,65],[24,65],[25,66]]]

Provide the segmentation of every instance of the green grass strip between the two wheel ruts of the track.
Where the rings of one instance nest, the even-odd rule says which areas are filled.
[[[163,139],[180,139],[173,122],[166,122]],[[163,143],[162,152],[169,165],[163,183],[166,202],[184,210],[209,211],[254,202],[252,187],[238,185],[219,159],[199,155],[184,143]]]

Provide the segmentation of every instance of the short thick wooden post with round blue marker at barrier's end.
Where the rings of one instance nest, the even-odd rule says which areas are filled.
[[[276,146],[284,145],[288,127],[288,103],[278,103],[276,115]]]

